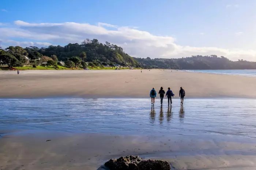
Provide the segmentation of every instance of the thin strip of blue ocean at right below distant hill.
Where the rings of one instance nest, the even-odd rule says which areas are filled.
[[[213,74],[256,76],[256,70],[187,70],[189,72],[205,72]]]

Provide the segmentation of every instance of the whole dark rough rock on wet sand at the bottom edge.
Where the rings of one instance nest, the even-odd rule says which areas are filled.
[[[170,170],[170,164],[167,161],[142,160],[138,156],[120,157],[110,159],[105,163],[110,170]]]

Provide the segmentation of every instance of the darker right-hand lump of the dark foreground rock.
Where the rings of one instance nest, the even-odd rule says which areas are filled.
[[[134,170],[170,170],[170,163],[167,161],[159,161],[149,159],[147,161],[141,161]]]

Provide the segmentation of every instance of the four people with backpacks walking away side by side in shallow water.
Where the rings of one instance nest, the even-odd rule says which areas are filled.
[[[163,87],[161,87],[158,94],[160,95],[161,106],[163,104],[164,97],[168,98],[168,105],[172,104],[172,98],[174,97],[174,94],[170,87],[168,87],[168,90],[166,93],[163,90]],[[185,97],[185,90],[182,87],[180,87],[179,96],[180,96],[180,103],[183,104],[184,97]],[[153,89],[150,91],[150,97],[151,97],[151,104],[155,104],[155,98],[157,97],[157,91],[155,91],[155,87],[153,87]]]

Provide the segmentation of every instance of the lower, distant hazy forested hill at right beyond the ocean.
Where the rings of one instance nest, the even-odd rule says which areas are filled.
[[[179,59],[135,58],[146,68],[171,68],[182,70],[243,70],[256,69],[256,62],[231,61],[223,56],[191,56]]]

